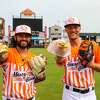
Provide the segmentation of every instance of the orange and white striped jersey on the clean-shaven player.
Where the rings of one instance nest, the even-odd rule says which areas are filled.
[[[94,45],[94,61],[100,63],[100,57],[98,57],[98,45],[93,42]],[[78,70],[78,54],[79,48],[71,48],[71,55],[64,58],[65,74],[64,82],[65,84],[76,87],[76,88],[89,88],[94,86],[94,69],[84,68]]]

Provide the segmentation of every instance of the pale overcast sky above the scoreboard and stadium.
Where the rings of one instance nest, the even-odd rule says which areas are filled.
[[[58,24],[63,27],[68,16],[77,16],[82,32],[100,32],[100,0],[1,0],[0,17],[12,24],[12,16],[30,8],[37,16],[43,16],[43,25]]]

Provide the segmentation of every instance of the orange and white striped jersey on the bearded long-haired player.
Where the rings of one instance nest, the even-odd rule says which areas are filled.
[[[3,96],[26,100],[35,95],[35,77],[27,62],[31,57],[28,53],[27,58],[22,59],[16,48],[9,48],[8,61],[3,67]]]

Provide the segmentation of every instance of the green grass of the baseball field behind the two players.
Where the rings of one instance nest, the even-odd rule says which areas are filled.
[[[33,54],[42,53],[48,58],[46,80],[36,84],[36,100],[61,100],[63,90],[63,68],[58,68],[56,66],[54,56],[48,53],[45,48],[32,48],[30,51]],[[2,71],[0,71],[0,73],[0,100],[2,100]],[[100,73],[95,73],[95,82],[97,100],[100,100]]]

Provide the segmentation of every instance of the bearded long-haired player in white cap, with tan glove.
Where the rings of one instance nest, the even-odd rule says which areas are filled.
[[[35,82],[45,79],[46,59],[33,56],[31,28],[19,25],[15,29],[15,48],[0,44],[0,65],[3,68],[2,100],[35,100]]]

